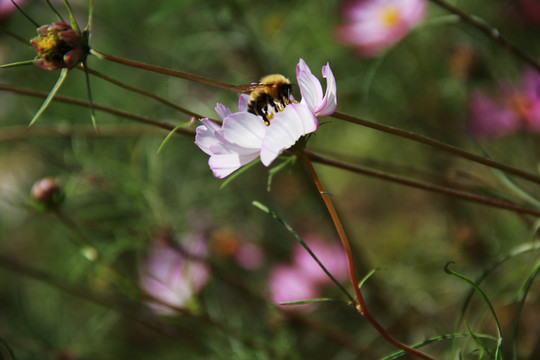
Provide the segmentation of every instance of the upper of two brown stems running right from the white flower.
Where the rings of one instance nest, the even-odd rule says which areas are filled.
[[[473,162],[476,162],[478,164],[482,164],[482,165],[485,165],[485,166],[488,166],[488,167],[491,167],[491,168],[499,169],[499,170],[502,170],[502,171],[504,171],[504,172],[506,172],[508,174],[519,176],[519,177],[521,177],[523,179],[527,179],[529,181],[540,184],[540,177],[539,176],[527,173],[525,171],[513,168],[513,167],[508,166],[508,165],[498,163],[498,162],[490,160],[490,159],[486,159],[486,158],[484,158],[482,156],[472,154],[472,153],[470,153],[468,151],[459,149],[459,148],[457,148],[455,146],[452,146],[452,145],[445,144],[445,143],[443,143],[441,141],[438,141],[438,140],[428,138],[426,136],[418,135],[418,134],[415,134],[415,133],[412,133],[412,132],[409,132],[409,131],[405,131],[405,130],[401,130],[401,129],[398,129],[398,128],[395,128],[395,127],[392,127],[392,126],[378,124],[378,123],[374,123],[374,122],[371,122],[371,121],[363,120],[363,119],[360,119],[358,117],[343,114],[343,113],[340,113],[340,112],[335,112],[334,114],[332,114],[332,117],[334,117],[336,119],[344,120],[344,121],[347,121],[347,122],[350,122],[350,123],[353,123],[353,124],[362,125],[362,126],[374,129],[374,130],[382,131],[382,132],[385,132],[387,134],[392,134],[392,135],[396,135],[396,136],[399,136],[399,137],[402,137],[402,138],[413,140],[413,141],[422,143],[424,145],[428,145],[428,146],[431,146],[433,148],[448,152],[448,153],[450,153],[452,155],[456,155],[456,156],[462,157],[464,159],[467,159],[467,160],[470,160],[470,161],[473,161]]]

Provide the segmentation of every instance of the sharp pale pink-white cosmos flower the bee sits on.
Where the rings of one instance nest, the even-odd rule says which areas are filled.
[[[201,119],[195,136],[195,144],[210,155],[208,164],[214,176],[222,179],[258,157],[269,166],[298,139],[317,130],[317,116],[329,116],[337,106],[336,80],[329,64],[323,66],[322,75],[327,82],[324,96],[321,83],[300,59],[296,80],[302,100],[275,113],[268,126],[262,117],[247,111],[248,95],[240,96],[235,113],[218,103],[216,112],[223,124]]]

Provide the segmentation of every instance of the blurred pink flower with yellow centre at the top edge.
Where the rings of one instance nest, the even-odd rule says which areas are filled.
[[[403,39],[426,14],[425,0],[350,0],[338,40],[371,57]]]

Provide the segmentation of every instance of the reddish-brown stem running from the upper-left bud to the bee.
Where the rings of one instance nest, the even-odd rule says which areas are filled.
[[[126,59],[120,56],[106,54],[104,52],[97,51],[95,49],[91,49],[90,54],[102,60],[108,60],[108,61],[112,61],[118,64],[134,67],[137,69],[143,69],[143,70],[152,71],[152,72],[156,72],[156,73],[160,73],[164,75],[174,76],[181,79],[197,82],[200,84],[214,86],[220,89],[231,90],[232,88],[234,88],[233,85],[224,83],[219,80],[214,80],[214,79],[210,79],[210,78],[199,76],[199,75],[188,74],[183,71],[173,70],[173,69],[169,69],[169,68],[165,68],[165,67],[157,66],[157,65],[151,65],[151,64],[140,62],[140,61],[130,60],[130,59]]]

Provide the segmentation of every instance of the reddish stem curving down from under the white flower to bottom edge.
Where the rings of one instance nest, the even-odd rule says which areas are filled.
[[[423,353],[422,351],[419,351],[417,349],[413,349],[412,347],[410,347],[410,346],[408,346],[406,344],[403,344],[403,343],[399,342],[398,340],[394,339],[394,337],[392,337],[392,335],[390,335],[375,320],[375,318],[368,311],[366,303],[364,301],[364,297],[362,296],[362,293],[360,291],[360,287],[358,286],[359,282],[358,282],[358,279],[356,277],[356,267],[355,267],[355,264],[354,264],[354,256],[353,256],[353,253],[352,253],[351,245],[350,245],[349,239],[347,238],[347,234],[345,232],[345,229],[343,228],[343,225],[341,224],[341,220],[340,220],[340,218],[339,218],[339,216],[337,214],[337,211],[334,208],[334,205],[332,203],[330,195],[325,190],[324,186],[322,185],[322,183],[321,183],[321,181],[320,181],[320,179],[319,179],[319,177],[317,175],[317,172],[313,168],[313,165],[311,164],[311,161],[310,161],[310,157],[307,154],[305,154],[304,152],[300,153],[299,156],[304,161],[304,163],[306,164],[306,166],[307,166],[307,168],[309,170],[309,173],[311,174],[311,177],[313,178],[315,186],[317,187],[317,190],[319,190],[319,193],[320,193],[320,195],[321,195],[321,197],[323,199],[323,202],[326,205],[326,208],[328,209],[328,213],[330,214],[330,217],[332,218],[332,221],[334,223],[334,227],[336,228],[336,231],[337,231],[337,233],[339,235],[339,238],[341,239],[341,243],[343,244],[343,248],[345,249],[345,253],[347,255],[347,264],[348,264],[348,269],[349,269],[349,277],[350,277],[350,280],[351,280],[351,283],[352,283],[352,286],[353,286],[353,289],[354,289],[354,293],[355,293],[355,296],[356,296],[356,302],[357,303],[355,305],[356,305],[356,308],[357,308],[358,312],[362,316],[364,316],[364,318],[371,324],[371,326],[373,326],[373,328],[375,330],[377,330],[377,332],[379,334],[381,334],[381,336],[386,341],[388,341],[390,344],[392,344],[396,348],[404,350],[407,353],[409,353],[409,354],[411,354],[413,356],[416,356],[416,357],[418,357],[420,359],[433,360],[433,358],[431,356]]]

